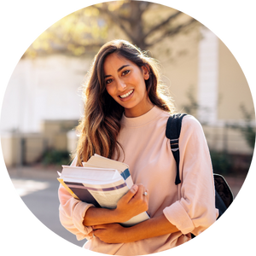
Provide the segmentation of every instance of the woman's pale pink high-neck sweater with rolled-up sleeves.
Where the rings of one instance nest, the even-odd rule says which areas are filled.
[[[125,150],[125,164],[130,166],[134,183],[143,183],[149,191],[150,218],[164,213],[178,230],[121,244],[107,244],[87,236],[91,227],[84,227],[84,215],[93,205],[73,199],[61,185],[59,188],[61,224],[78,240],[88,239],[83,251],[96,255],[159,255],[189,243],[190,232],[201,237],[216,225],[212,162],[201,124],[193,116],[183,118],[179,140],[180,178],[175,185],[176,162],[166,138],[169,113],[154,107],[137,118],[121,120],[118,141]],[[119,160],[123,160],[123,154]],[[76,162],[73,162],[75,166]]]

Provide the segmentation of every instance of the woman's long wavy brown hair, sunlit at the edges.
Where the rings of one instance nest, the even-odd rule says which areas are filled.
[[[96,54],[88,74],[89,79],[84,84],[84,115],[77,126],[79,141],[76,153],[73,154],[73,158],[78,156],[77,166],[82,166],[82,161],[89,160],[93,154],[111,158],[117,150],[119,158],[119,149],[122,147],[117,142],[117,136],[125,109],[108,95],[103,70],[106,57],[113,53],[134,62],[137,67],[149,67],[149,79],[145,80],[145,84],[150,101],[169,113],[175,112],[171,97],[166,97],[168,90],[160,81],[158,61],[125,40],[104,44]]]

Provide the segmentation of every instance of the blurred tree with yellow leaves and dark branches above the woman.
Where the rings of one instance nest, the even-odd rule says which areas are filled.
[[[164,38],[186,32],[198,24],[195,22],[198,20],[195,15],[190,15],[189,19],[180,19],[184,15],[188,17],[188,13],[173,5],[170,15],[165,18],[158,17],[157,22],[155,19],[154,22],[145,19],[148,12],[166,8],[164,4],[167,7],[168,3],[153,3],[148,0],[84,4],[44,26],[26,45],[20,56],[53,52],[84,55],[90,49],[99,49],[108,38],[108,29],[114,26],[119,27],[131,43],[141,49],[148,49]]]

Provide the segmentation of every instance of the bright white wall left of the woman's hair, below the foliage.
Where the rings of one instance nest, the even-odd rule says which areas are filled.
[[[79,119],[89,59],[65,55],[15,61],[3,86],[0,133],[40,131],[43,119]]]

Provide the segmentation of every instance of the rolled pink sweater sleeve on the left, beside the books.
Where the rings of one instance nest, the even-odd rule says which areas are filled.
[[[73,160],[71,166],[76,166],[76,158]],[[84,216],[93,204],[87,204],[73,198],[61,184],[58,190],[60,201],[59,217],[61,225],[69,232],[76,235],[77,240],[90,239],[88,234],[92,231],[90,226],[84,226]]]

